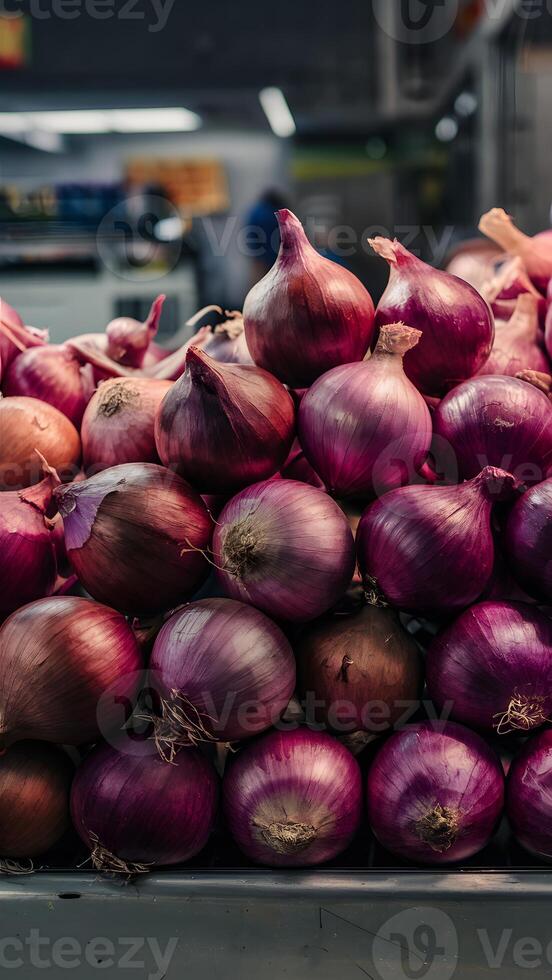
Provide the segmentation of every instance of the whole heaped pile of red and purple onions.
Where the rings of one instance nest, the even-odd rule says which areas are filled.
[[[552,863],[552,236],[277,217],[176,351],[0,300],[0,873]]]

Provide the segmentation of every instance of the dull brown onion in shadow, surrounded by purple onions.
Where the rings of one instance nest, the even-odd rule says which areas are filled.
[[[415,708],[418,647],[391,609],[364,606],[307,627],[297,644],[302,700],[337,734],[381,733]]]

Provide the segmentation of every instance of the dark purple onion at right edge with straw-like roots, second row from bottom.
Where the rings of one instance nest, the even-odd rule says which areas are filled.
[[[526,603],[467,609],[433,641],[426,666],[437,707],[474,728],[523,734],[552,711],[552,621]]]

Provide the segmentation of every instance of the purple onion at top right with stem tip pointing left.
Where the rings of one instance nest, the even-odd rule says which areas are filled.
[[[469,283],[426,265],[400,242],[371,238],[389,263],[389,282],[376,310],[376,324],[402,320],[422,331],[404,370],[426,395],[442,395],[483,366],[494,339],[493,315]]]

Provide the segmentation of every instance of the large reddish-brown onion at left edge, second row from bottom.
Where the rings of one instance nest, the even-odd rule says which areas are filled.
[[[75,596],[13,613],[0,664],[0,748],[26,738],[80,745],[121,726],[143,666],[123,616]]]

